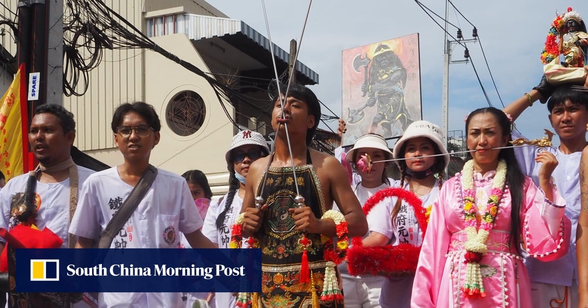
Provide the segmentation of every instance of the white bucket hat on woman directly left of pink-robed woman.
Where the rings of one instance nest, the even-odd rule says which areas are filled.
[[[406,128],[405,133],[398,141],[396,141],[396,145],[394,145],[394,158],[401,158],[400,149],[402,149],[402,145],[404,145],[407,140],[417,137],[429,138],[437,145],[437,148],[439,148],[439,151],[442,154],[446,154],[443,155],[443,160],[445,160],[443,169],[445,170],[445,168],[447,168],[449,165],[449,155],[447,155],[447,149],[445,148],[445,145],[443,145],[443,131],[439,126],[430,123],[429,121],[414,121],[413,123],[410,123],[410,125]],[[396,164],[400,166],[399,163],[400,161],[396,161]]]

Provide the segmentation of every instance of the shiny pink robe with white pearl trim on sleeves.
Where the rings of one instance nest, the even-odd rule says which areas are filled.
[[[474,181],[476,202],[492,188],[494,171]],[[467,299],[461,290],[466,274],[463,248],[467,240],[459,177],[448,180],[433,204],[412,293],[412,307],[532,307],[529,275],[522,256],[509,242],[511,196],[505,189],[490,236],[488,253],[480,261],[487,294]],[[528,258],[544,261],[564,256],[570,242],[570,220],[564,216],[564,199],[553,189],[550,202],[530,178],[523,184],[524,198],[517,236]],[[485,203],[484,203],[485,204]]]

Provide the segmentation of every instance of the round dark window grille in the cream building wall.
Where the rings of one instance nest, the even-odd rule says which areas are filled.
[[[196,133],[202,127],[205,117],[204,100],[193,91],[176,94],[165,109],[165,120],[169,128],[179,136]]]

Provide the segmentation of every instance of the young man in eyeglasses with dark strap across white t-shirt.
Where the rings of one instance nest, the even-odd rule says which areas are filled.
[[[136,101],[119,106],[111,128],[121,165],[96,172],[84,183],[69,232],[79,236],[76,248],[92,248],[123,201],[149,167],[151,150],[159,143],[161,123],[153,106]],[[139,211],[140,209],[140,211]],[[111,248],[178,248],[183,233],[193,248],[215,248],[202,235],[202,219],[186,180],[158,169],[153,184]],[[101,307],[179,307],[181,293],[101,293]]]

